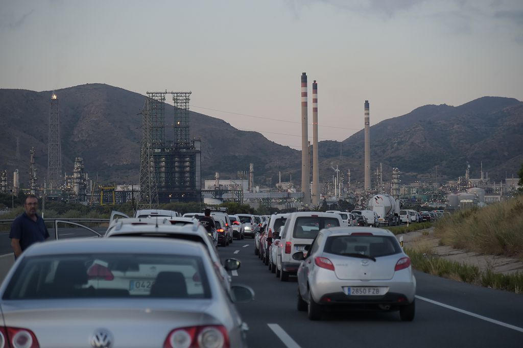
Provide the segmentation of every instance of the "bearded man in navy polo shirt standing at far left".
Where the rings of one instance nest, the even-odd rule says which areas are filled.
[[[15,252],[15,260],[33,243],[49,238],[49,231],[42,217],[36,214],[38,199],[30,194],[24,203],[25,212],[18,216],[11,225],[11,246]]]

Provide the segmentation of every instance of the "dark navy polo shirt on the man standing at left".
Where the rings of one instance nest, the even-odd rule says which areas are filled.
[[[9,238],[20,239],[20,248],[24,251],[31,244],[49,238],[49,231],[46,224],[43,223],[42,217],[37,215],[37,220],[34,222],[24,212],[13,221]]]

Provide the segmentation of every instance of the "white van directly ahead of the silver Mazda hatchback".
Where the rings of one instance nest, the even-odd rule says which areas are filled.
[[[304,251],[318,232],[323,228],[342,226],[342,217],[337,214],[323,212],[290,213],[281,233],[280,246],[283,248],[277,261],[276,274],[282,282],[289,280],[289,275],[295,275],[300,262],[292,258],[298,251]]]

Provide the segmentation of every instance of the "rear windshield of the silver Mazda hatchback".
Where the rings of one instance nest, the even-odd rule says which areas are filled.
[[[325,242],[324,252],[331,254],[364,254],[373,258],[401,252],[393,236],[331,236]]]

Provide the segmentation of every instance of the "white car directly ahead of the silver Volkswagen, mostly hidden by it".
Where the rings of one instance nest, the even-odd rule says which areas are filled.
[[[104,237],[159,237],[202,243],[207,248],[209,256],[214,262],[215,268],[219,271],[226,287],[230,287],[231,276],[221,264],[218,250],[216,249],[216,242],[213,237],[209,235],[207,229],[194,218],[178,217],[173,219],[191,219],[194,223],[175,225],[172,224],[170,218],[164,218],[160,224],[151,223],[149,221],[150,219],[142,219],[142,221],[138,223],[133,222],[137,219],[119,219],[112,228],[107,230]],[[218,237],[215,238],[218,240]]]

